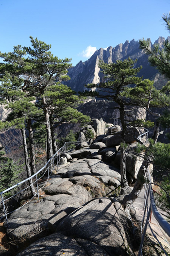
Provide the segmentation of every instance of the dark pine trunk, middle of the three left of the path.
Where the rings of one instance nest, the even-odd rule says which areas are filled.
[[[31,119],[28,120],[28,132],[29,132],[29,148],[30,148],[30,167],[33,175],[36,173],[36,168],[35,168],[35,151],[34,151],[33,129],[31,126]]]

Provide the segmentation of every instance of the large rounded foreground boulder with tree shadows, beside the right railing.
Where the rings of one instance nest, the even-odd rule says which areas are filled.
[[[60,222],[57,232],[91,241],[102,246],[110,256],[129,255],[124,228],[107,197],[92,200],[74,211]]]

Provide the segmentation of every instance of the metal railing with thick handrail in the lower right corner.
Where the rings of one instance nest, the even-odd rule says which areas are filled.
[[[143,244],[144,244],[147,226],[149,226],[149,228],[151,229],[153,237],[159,243],[159,245],[160,245],[161,249],[163,250],[163,252],[165,253],[165,255],[168,256],[167,252],[163,248],[161,242],[157,238],[156,234],[154,233],[154,231],[149,223],[151,213],[153,212],[153,215],[154,215],[155,219],[157,220],[158,224],[160,225],[160,227],[164,230],[164,232],[169,237],[170,237],[170,224],[160,215],[160,213],[158,212],[158,210],[156,208],[156,204],[155,204],[155,200],[154,200],[154,196],[153,196],[152,180],[151,180],[151,175],[150,175],[149,169],[147,169],[145,178],[146,178],[146,181],[148,180],[149,182],[145,183],[145,187],[144,187],[144,189],[145,189],[145,197],[144,197],[145,200],[144,200],[144,207],[143,207],[144,214],[143,214],[143,219],[141,222],[142,239],[141,239],[141,243],[140,243],[138,256],[142,256],[142,248],[143,248]],[[150,198],[150,204],[148,203],[149,198]],[[149,207],[149,209],[148,209],[148,207]],[[146,212],[147,212],[147,217],[146,217],[145,227],[143,230],[143,224],[144,224]]]

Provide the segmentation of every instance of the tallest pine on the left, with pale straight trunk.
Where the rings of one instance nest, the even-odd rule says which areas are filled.
[[[21,90],[27,93],[27,97],[36,98],[37,108],[41,108],[44,113],[44,124],[46,125],[47,138],[47,160],[55,153],[56,145],[53,133],[53,120],[61,116],[58,112],[66,106],[74,108],[78,97],[68,87],[63,87],[62,82],[68,80],[68,69],[71,59],[58,59],[50,51],[51,45],[46,44],[37,38],[31,39],[31,47],[14,47],[14,52],[0,54],[5,63],[0,63],[0,76],[4,77],[8,72],[11,77],[21,79]],[[26,55],[28,56],[27,58]],[[60,82],[60,83],[57,83]],[[57,83],[55,85],[55,83]],[[55,92],[58,86],[59,92]],[[64,95],[64,99],[61,96]],[[52,100],[51,100],[52,99]],[[52,104],[51,104],[52,103]],[[71,105],[72,104],[72,105]],[[54,113],[55,112],[55,113]],[[76,110],[75,110],[76,112]]]

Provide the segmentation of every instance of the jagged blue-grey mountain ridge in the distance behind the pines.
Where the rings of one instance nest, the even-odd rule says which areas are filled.
[[[169,38],[168,38],[169,39]],[[159,37],[154,43],[159,43],[162,47],[162,43],[165,40],[163,37]],[[153,44],[151,43],[153,46]],[[134,39],[130,42],[127,40],[125,43],[120,43],[116,47],[108,47],[106,50],[100,48],[93,56],[85,62],[80,61],[75,67],[72,67],[68,71],[70,80],[66,82],[71,89],[77,91],[84,91],[85,84],[87,83],[98,83],[100,82],[103,74],[100,72],[98,67],[99,60],[103,60],[106,63],[116,62],[117,59],[138,59],[136,67],[142,65],[142,70],[138,73],[138,76],[143,76],[144,79],[154,79],[158,74],[158,71],[151,67],[148,62],[148,56],[143,50],[139,49],[138,41]],[[161,79],[161,85],[159,84]],[[156,82],[158,87],[162,87],[166,83],[166,79],[162,79],[162,76],[156,76]]]

